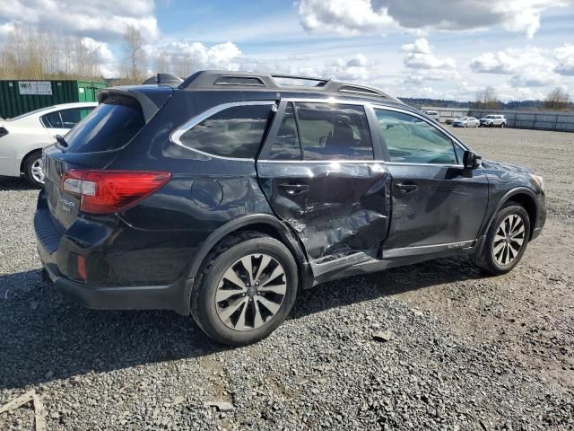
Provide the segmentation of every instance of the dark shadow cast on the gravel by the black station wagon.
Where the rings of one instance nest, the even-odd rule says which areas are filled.
[[[464,258],[352,277],[302,292],[290,319],[477,277]],[[68,303],[41,282],[39,270],[0,276],[0,334],[0,389],[230,349],[174,312],[94,311]]]

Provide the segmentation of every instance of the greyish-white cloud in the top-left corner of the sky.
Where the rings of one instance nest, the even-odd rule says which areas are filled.
[[[0,21],[107,41],[119,40],[126,26],[134,25],[153,40],[159,36],[153,8],[153,0],[10,0],[0,8]]]

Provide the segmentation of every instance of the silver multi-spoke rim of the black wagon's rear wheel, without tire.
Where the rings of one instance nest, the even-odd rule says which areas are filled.
[[[257,330],[279,312],[288,281],[277,259],[249,254],[223,274],[215,292],[217,315],[232,330]]]

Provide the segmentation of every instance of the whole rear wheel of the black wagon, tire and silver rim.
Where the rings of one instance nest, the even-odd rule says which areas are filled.
[[[191,298],[194,320],[218,343],[265,339],[291,312],[299,286],[291,251],[274,238],[236,238],[206,259]]]

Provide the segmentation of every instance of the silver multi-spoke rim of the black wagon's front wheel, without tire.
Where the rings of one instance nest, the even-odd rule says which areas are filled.
[[[507,266],[517,259],[526,240],[524,220],[517,214],[507,216],[494,235],[492,257],[501,266]]]

